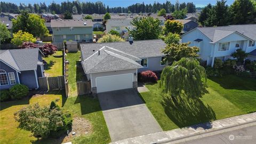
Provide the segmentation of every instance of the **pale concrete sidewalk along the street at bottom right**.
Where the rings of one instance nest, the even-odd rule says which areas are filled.
[[[256,112],[251,114],[239,115],[224,119],[219,119],[217,121],[197,124],[193,126],[183,127],[181,129],[174,129],[171,131],[157,132],[146,135],[141,135],[139,137],[119,140],[116,142],[111,142],[111,144],[128,144],[128,143],[166,143],[172,142],[176,143],[175,140],[186,139],[189,137],[206,137],[213,132],[215,134],[222,133],[221,130],[230,129],[231,127],[242,126],[242,125],[255,125],[256,124]],[[179,141],[181,142],[181,141]]]

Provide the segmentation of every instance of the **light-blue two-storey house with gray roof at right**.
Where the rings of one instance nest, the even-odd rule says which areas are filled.
[[[195,28],[182,35],[182,43],[200,48],[200,58],[213,66],[214,59],[233,59],[237,49],[250,53],[256,49],[256,25],[230,25],[223,27]]]

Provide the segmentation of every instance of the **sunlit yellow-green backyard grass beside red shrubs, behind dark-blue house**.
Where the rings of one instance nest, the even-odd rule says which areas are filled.
[[[49,57],[43,58],[47,62],[44,70],[46,75],[49,77],[63,75],[63,59],[55,58],[54,55],[62,55],[62,51],[57,51],[53,55],[49,55]]]

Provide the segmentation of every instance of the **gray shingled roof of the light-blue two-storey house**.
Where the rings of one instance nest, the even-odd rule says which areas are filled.
[[[237,31],[238,33],[249,37],[256,41],[256,25],[230,25],[223,27],[204,27],[197,28],[204,35],[211,39],[212,42],[217,42],[217,40],[222,39],[232,33]]]

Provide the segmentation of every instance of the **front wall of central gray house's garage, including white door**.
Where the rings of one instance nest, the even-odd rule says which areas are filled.
[[[97,88],[97,93],[133,88],[137,82],[137,69],[105,71],[92,73],[92,88]]]

